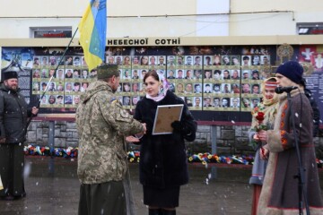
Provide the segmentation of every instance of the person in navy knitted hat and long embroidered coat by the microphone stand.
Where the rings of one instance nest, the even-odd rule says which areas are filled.
[[[281,64],[275,73],[279,86],[285,88],[295,86],[298,89],[289,88],[290,99],[287,98],[286,92],[279,96],[274,129],[258,132],[258,138],[267,143],[265,148],[270,153],[258,202],[257,214],[259,215],[308,214],[305,206],[309,207],[311,215],[323,214],[319,173],[312,138],[312,108],[304,90],[301,90],[302,73],[301,64],[295,61]],[[296,142],[300,149],[302,168],[304,168],[301,213],[299,179],[295,178],[299,175],[300,169]],[[305,196],[308,205],[305,205]]]

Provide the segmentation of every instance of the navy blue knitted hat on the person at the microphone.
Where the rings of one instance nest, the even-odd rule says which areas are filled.
[[[283,74],[292,82],[301,83],[301,76],[304,72],[303,67],[296,61],[287,61],[278,66],[276,73]]]

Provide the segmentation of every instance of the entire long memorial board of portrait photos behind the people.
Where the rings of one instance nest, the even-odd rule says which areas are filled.
[[[306,47],[293,48],[292,57],[298,58]],[[2,69],[13,61],[20,64],[22,92],[31,103],[40,101],[41,113],[74,113],[81,94],[96,80],[82,47],[70,47],[61,60],[63,50],[2,48]],[[210,122],[249,122],[250,110],[261,101],[261,82],[271,75],[276,61],[276,46],[107,47],[105,59],[119,65],[116,97],[125,108],[134,109],[144,97],[144,74],[154,70],[167,78],[170,90],[188,104],[197,120]],[[317,88],[312,86],[314,94]]]

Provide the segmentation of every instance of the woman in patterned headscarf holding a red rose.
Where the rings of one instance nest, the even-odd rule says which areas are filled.
[[[255,107],[251,111],[252,122],[249,140],[257,144],[255,160],[252,166],[252,175],[249,179],[249,184],[253,185],[251,215],[257,214],[258,199],[265,176],[268,153],[268,150],[263,147],[266,142],[261,142],[258,138],[258,130],[261,127],[266,129],[274,128],[275,114],[277,113],[278,107],[278,96],[275,94],[276,87],[275,77],[266,79],[261,84],[263,100],[258,107]],[[264,157],[263,159],[260,158],[260,154]]]

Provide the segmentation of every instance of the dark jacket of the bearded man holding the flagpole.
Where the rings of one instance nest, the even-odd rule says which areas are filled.
[[[19,93],[8,90],[3,86],[0,89],[0,130],[6,143],[25,141],[25,127],[27,117],[31,116],[31,108]]]

